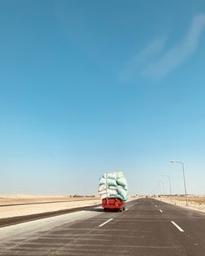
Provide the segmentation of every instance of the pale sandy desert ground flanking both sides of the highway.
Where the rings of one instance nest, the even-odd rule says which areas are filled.
[[[130,197],[129,200],[139,197]],[[186,208],[203,211],[205,213],[205,196],[189,196],[189,205],[185,205],[185,197],[173,196],[172,202],[170,197],[157,198],[167,203],[173,203]],[[98,197],[80,196],[73,197],[55,196],[55,195],[24,195],[24,194],[0,194],[0,219],[7,217],[18,217],[37,213],[48,213],[71,208],[86,207],[98,205],[101,200]]]

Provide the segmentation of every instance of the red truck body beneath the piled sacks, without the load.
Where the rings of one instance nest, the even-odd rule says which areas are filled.
[[[102,207],[104,211],[118,210],[119,212],[125,211],[125,202],[117,198],[102,199]]]

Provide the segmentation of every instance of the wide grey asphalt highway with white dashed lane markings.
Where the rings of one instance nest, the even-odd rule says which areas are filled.
[[[205,214],[155,199],[0,228],[0,255],[205,256]]]

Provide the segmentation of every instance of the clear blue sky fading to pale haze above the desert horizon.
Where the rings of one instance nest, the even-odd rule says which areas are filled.
[[[0,194],[205,194],[205,2],[1,1]],[[168,183],[165,180],[166,191]]]

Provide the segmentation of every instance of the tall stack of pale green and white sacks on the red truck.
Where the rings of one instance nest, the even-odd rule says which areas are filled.
[[[127,200],[127,181],[122,171],[105,173],[98,182],[101,199],[118,198]]]

